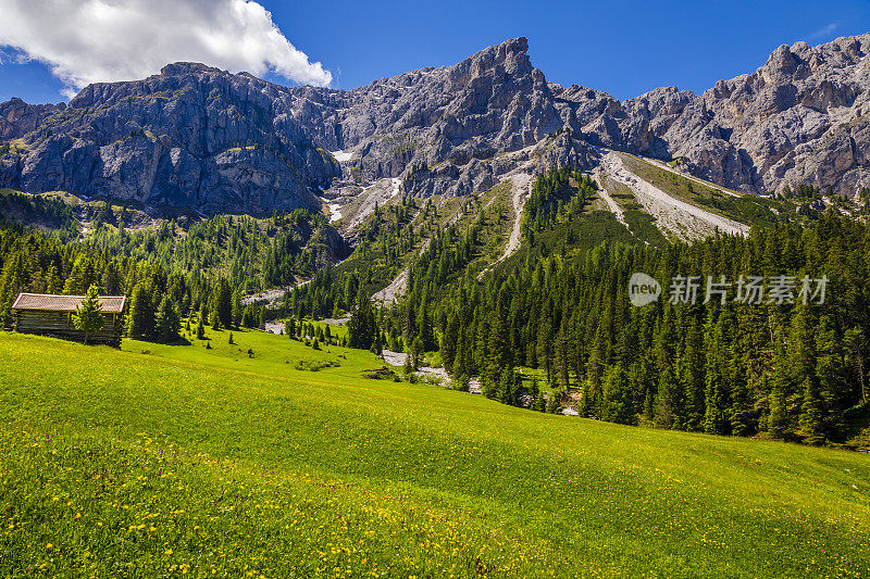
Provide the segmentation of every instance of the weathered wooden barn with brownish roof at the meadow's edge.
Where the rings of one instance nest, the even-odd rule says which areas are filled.
[[[84,341],[85,333],[76,329],[73,314],[82,305],[84,295],[49,295],[45,293],[18,293],[12,304],[15,331],[41,333],[71,340]],[[107,343],[121,347],[124,332],[124,295],[100,295],[102,329],[88,337],[88,343]]]

